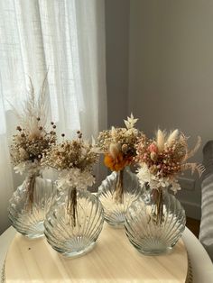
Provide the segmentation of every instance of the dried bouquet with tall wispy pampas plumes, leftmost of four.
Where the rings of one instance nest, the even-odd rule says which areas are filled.
[[[47,78],[47,77],[46,77]],[[36,176],[41,171],[42,154],[56,142],[56,125],[51,122],[51,130],[48,131],[46,124],[46,78],[44,78],[42,87],[37,96],[32,86],[30,78],[30,88],[28,96],[23,104],[22,113],[18,113],[14,108],[19,125],[17,133],[13,136],[11,144],[11,160],[16,173],[27,173],[29,175],[27,182],[28,205],[33,202],[33,187]],[[13,106],[13,105],[12,105]]]

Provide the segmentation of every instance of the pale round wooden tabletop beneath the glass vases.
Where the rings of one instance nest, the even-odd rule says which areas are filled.
[[[5,260],[6,283],[185,283],[187,271],[187,251],[182,241],[170,254],[144,256],[128,242],[124,229],[107,224],[94,250],[79,258],[64,258],[45,238],[29,240],[17,233]]]

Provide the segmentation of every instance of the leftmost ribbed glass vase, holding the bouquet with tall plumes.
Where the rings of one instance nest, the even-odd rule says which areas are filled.
[[[42,237],[54,193],[53,182],[42,178],[42,171],[28,173],[9,200],[8,217],[15,230],[28,238]]]

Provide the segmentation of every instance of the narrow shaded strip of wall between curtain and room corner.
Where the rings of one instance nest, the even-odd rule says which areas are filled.
[[[128,97],[129,0],[106,0],[108,126],[124,125]]]

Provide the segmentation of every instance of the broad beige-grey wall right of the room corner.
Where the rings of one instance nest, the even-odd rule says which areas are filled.
[[[213,137],[213,1],[130,1],[128,112],[148,135],[179,128]],[[193,160],[202,161],[201,148]],[[179,197],[200,216],[200,184]]]

